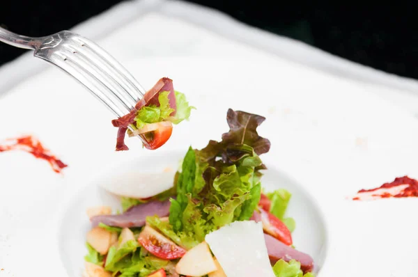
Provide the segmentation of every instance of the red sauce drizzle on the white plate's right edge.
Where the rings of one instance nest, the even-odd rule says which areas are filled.
[[[382,191],[377,194],[373,194],[373,198],[405,198],[405,197],[418,197],[418,181],[408,176],[396,177],[393,182],[382,184],[382,186],[375,189],[360,189],[357,192],[357,196],[353,197],[353,200],[361,200],[362,193],[373,192],[379,189],[391,189],[394,187],[405,186],[401,191],[397,191],[396,194],[391,194],[387,191]]]

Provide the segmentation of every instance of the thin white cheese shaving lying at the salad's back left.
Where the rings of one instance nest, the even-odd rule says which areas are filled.
[[[140,173],[129,172],[109,177],[100,186],[117,196],[149,198],[173,187],[175,172]]]

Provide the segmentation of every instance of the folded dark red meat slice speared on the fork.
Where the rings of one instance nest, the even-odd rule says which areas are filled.
[[[134,109],[127,113],[125,116],[121,118],[117,118],[111,120],[111,124],[114,127],[118,127],[118,136],[116,139],[116,151],[121,150],[129,150],[125,145],[125,132],[127,127],[135,122],[135,116],[137,116],[137,111],[141,109],[143,106],[147,106],[149,104],[155,104],[156,106],[160,106],[160,102],[158,102],[158,95],[164,91],[169,91],[169,104],[170,107],[174,109],[171,113],[171,116],[176,115],[176,94],[174,92],[173,87],[173,80],[169,78],[161,78],[157,81],[157,84],[153,86],[147,93],[144,95],[144,98],[139,100],[137,104],[135,104]]]

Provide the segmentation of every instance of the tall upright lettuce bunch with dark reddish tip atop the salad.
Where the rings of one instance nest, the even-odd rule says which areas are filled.
[[[256,128],[265,118],[229,109],[230,131],[206,148],[189,148],[178,175],[177,197],[171,199],[169,223],[176,234],[197,242],[212,230],[236,220],[248,220],[261,197],[258,157],[270,141]]]

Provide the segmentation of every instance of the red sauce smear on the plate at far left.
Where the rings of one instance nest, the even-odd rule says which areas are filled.
[[[31,153],[38,159],[44,159],[49,162],[52,170],[56,173],[61,173],[63,168],[67,167],[66,164],[52,155],[47,148],[45,148],[38,139],[33,136],[22,136],[15,139],[6,139],[0,143],[0,152],[6,152],[11,150],[22,150]]]

